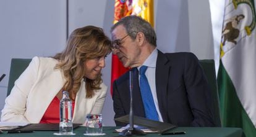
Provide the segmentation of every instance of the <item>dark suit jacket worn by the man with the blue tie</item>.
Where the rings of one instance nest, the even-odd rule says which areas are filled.
[[[134,72],[134,115],[145,117],[140,95],[137,68]],[[162,53],[156,60],[156,95],[163,121],[179,127],[213,127],[213,115],[208,106],[208,82],[193,53]],[[115,118],[129,114],[129,72],[113,83]],[[117,126],[125,123],[116,122]]]

